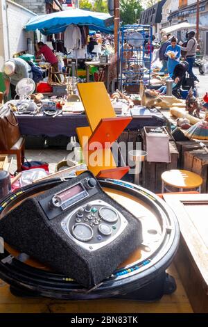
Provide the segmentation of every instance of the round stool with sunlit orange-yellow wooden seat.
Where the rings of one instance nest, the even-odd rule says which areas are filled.
[[[164,193],[165,185],[169,185],[179,189],[180,192],[183,189],[199,189],[203,182],[202,177],[196,173],[192,173],[189,170],[173,169],[164,171],[161,175],[162,178],[162,193]],[[168,191],[168,189],[166,189]]]

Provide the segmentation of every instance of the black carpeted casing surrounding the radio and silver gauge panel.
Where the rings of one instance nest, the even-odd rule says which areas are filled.
[[[79,200],[60,212],[59,209],[55,209],[55,214],[53,210],[52,214],[47,212],[48,209],[44,206],[55,193],[79,182],[85,183],[89,178],[96,181],[92,173],[85,172],[45,193],[27,198],[0,220],[0,235],[4,241],[17,250],[37,258],[40,262],[49,264],[53,270],[64,273],[86,288],[91,288],[110,276],[142,242],[139,219],[110,198],[97,181],[94,191],[88,190],[88,198]],[[89,251],[74,241],[73,237],[69,237],[62,228],[62,222],[81,205],[87,205],[87,202],[95,200],[107,202],[121,212],[127,222],[118,237],[112,238],[110,243],[101,248]]]

